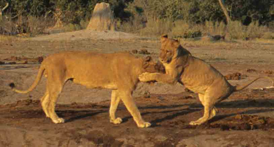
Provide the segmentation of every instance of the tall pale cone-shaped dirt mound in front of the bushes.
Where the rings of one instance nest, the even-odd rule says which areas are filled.
[[[109,3],[97,3],[87,29],[114,30],[114,17]]]

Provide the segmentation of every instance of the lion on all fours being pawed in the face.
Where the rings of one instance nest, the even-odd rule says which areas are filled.
[[[149,127],[151,124],[143,121],[132,93],[139,82],[138,75],[144,72],[158,72],[159,68],[150,56],[137,58],[126,52],[65,51],[52,54],[42,61],[34,83],[28,90],[15,89],[14,83],[9,86],[17,93],[29,93],[44,74],[47,82],[41,105],[46,117],[53,123],[65,123],[65,120],[55,113],[55,105],[66,81],[71,80],[88,88],[111,89],[110,122],[122,123],[122,119],[115,116],[119,101],[122,100],[137,126]]]

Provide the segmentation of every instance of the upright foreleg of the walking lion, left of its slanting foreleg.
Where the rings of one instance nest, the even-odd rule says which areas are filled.
[[[121,118],[116,118],[115,113],[120,101],[120,97],[118,97],[118,91],[117,90],[112,90],[111,92],[111,103],[110,103],[110,108],[109,108],[109,118],[110,118],[110,123],[118,124],[122,123]]]

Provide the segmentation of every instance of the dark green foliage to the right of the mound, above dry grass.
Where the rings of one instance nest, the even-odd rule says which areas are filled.
[[[232,20],[242,21],[249,25],[251,21],[259,21],[267,25],[274,19],[273,0],[224,0]],[[129,4],[129,11],[137,13],[143,10],[146,19],[168,18],[185,20],[193,23],[206,21],[224,21],[225,16],[218,0],[134,0]]]

